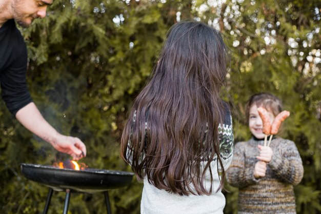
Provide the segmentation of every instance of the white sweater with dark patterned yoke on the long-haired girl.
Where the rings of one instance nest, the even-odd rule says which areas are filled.
[[[226,170],[233,157],[233,129],[232,119],[229,116],[226,124],[219,125],[218,133],[220,138],[220,158]],[[203,167],[206,162],[203,163]],[[218,164],[219,165],[219,164]],[[211,162],[213,175],[212,193],[209,196],[179,196],[179,194],[167,192],[164,189],[157,189],[144,179],[142,193],[141,213],[142,214],[223,214],[225,197],[221,190],[215,192],[220,184],[217,171],[217,158]],[[220,169],[219,169],[220,170]],[[210,172],[206,171],[205,186],[211,186]]]

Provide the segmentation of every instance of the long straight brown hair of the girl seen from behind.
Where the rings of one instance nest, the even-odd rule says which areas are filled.
[[[217,191],[223,187],[218,125],[224,119],[219,92],[226,50],[220,33],[203,23],[178,22],[168,31],[122,134],[121,157],[139,179],[180,195],[209,195],[205,172],[217,159],[223,172]]]

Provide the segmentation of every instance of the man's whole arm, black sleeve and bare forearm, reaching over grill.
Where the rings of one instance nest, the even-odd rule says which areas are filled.
[[[76,160],[85,157],[85,144],[78,138],[59,134],[32,102],[26,83],[27,47],[13,20],[7,23],[3,33],[0,41],[0,61],[3,63],[0,86],[9,111],[22,125],[56,150],[68,153]]]

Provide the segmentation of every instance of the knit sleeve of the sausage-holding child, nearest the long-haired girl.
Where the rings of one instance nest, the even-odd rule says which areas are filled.
[[[239,142],[234,146],[233,160],[226,171],[227,182],[238,188],[244,188],[259,181],[254,178],[254,167],[245,167],[245,144],[245,142]]]

